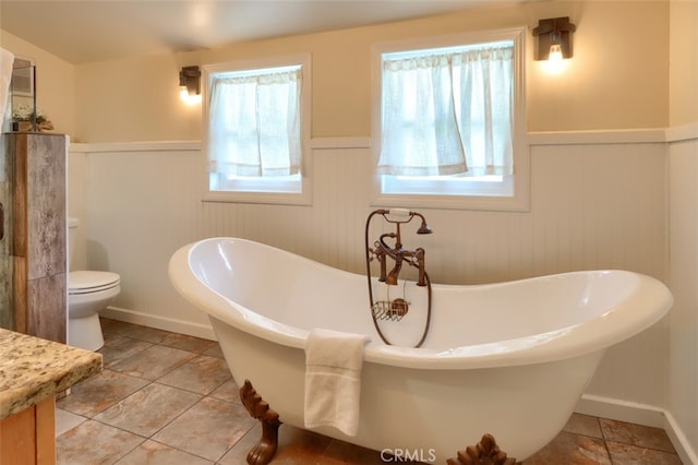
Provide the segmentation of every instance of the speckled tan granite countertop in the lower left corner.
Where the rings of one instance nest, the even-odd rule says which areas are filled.
[[[0,329],[0,419],[101,371],[101,354]]]

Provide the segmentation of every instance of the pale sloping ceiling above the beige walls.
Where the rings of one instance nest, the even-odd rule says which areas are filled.
[[[502,0],[0,0],[0,28],[70,63],[401,21]]]

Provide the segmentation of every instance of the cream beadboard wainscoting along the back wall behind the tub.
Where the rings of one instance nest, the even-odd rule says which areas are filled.
[[[424,210],[434,282],[477,284],[571,270],[626,269],[665,278],[665,144],[533,138],[529,212]],[[202,155],[191,145],[83,147],[87,264],[122,276],[112,317],[210,337],[206,317],[169,284],[179,247],[238,236],[363,273],[372,205],[366,143],[314,141],[312,206],[202,202]],[[73,164],[71,164],[73,167]],[[71,201],[73,199],[71,198]],[[405,205],[409,207],[410,205]],[[372,238],[373,240],[373,238]],[[273,283],[261,283],[272,287]],[[358,311],[361,311],[359,309]],[[609,351],[589,393],[663,403],[666,329],[660,324]],[[657,373],[648,377],[647,373]]]

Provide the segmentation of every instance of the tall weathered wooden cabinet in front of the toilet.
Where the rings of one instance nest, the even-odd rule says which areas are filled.
[[[63,134],[4,134],[11,208],[13,330],[67,341],[67,141]]]

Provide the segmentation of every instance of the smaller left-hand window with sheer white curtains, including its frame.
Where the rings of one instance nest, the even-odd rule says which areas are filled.
[[[310,203],[310,58],[204,67],[206,200]]]

